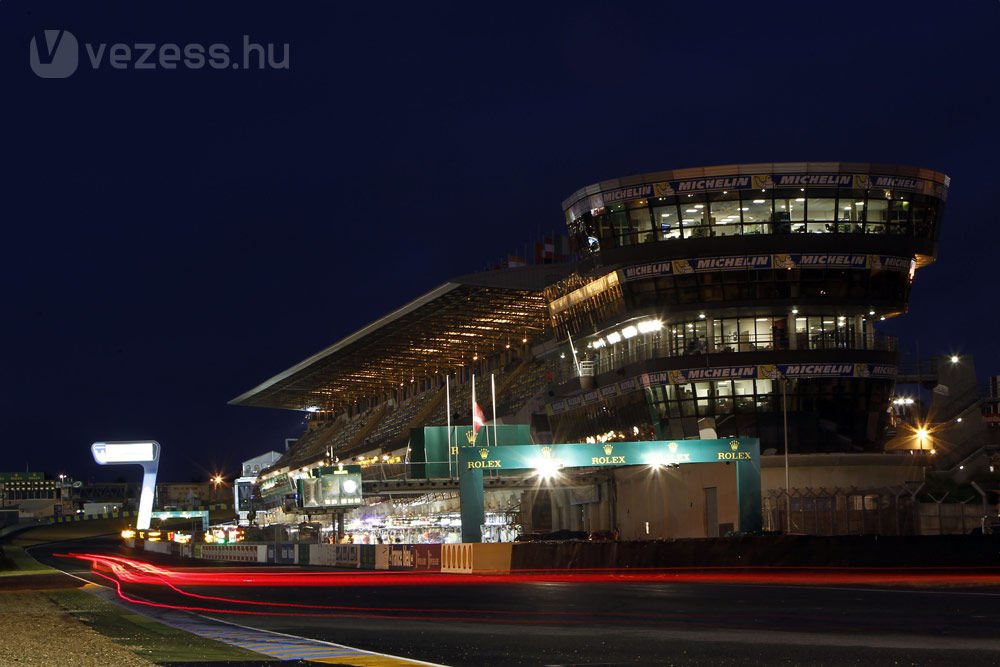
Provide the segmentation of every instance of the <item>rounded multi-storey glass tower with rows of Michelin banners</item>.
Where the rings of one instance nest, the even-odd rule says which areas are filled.
[[[897,374],[879,321],[937,255],[944,174],[752,164],[597,183],[563,206],[580,270],[547,290],[582,394],[554,437],[749,436],[765,452],[880,452]]]

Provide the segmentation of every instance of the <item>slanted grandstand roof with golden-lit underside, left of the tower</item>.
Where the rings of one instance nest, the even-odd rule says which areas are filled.
[[[541,291],[569,268],[545,264],[454,278],[229,403],[333,410],[470,363],[475,354],[542,332],[548,313]]]

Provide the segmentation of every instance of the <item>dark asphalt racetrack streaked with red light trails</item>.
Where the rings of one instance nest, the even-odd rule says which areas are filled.
[[[143,556],[166,569],[94,574],[89,561],[52,555],[101,548],[33,554],[104,585],[124,581],[137,601],[444,665],[1000,664],[995,571],[483,578],[188,569]]]

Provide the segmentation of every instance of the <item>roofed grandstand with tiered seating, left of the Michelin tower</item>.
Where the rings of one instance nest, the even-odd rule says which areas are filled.
[[[513,418],[555,376],[531,348],[550,333],[544,288],[567,265],[538,265],[455,278],[233,399],[233,405],[309,413],[309,428],[263,477],[326,460],[405,456],[411,428],[471,420],[477,401]],[[526,417],[521,415],[522,419]]]

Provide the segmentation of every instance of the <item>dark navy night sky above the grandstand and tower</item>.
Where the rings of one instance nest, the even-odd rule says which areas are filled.
[[[0,470],[114,478],[90,443],[153,438],[163,480],[231,476],[304,422],[227,401],[661,169],[947,173],[939,261],[883,328],[1000,373],[1000,2],[489,7],[0,0]],[[33,73],[45,29],[72,76]],[[244,35],[288,68],[85,50]]]

